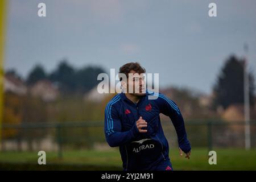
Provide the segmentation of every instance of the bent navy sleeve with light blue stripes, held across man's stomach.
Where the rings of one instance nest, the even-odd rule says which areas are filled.
[[[117,147],[131,142],[139,133],[136,122],[129,131],[121,131],[121,121],[117,110],[112,104],[108,104],[105,109],[104,131],[106,141],[110,147]]]

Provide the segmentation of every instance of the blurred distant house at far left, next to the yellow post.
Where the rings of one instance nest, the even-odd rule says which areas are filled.
[[[3,79],[4,92],[12,92],[18,95],[27,93],[27,86],[20,78],[14,75],[5,75]]]

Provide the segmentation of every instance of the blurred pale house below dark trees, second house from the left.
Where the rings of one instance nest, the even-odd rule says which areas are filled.
[[[40,97],[44,101],[54,101],[59,96],[57,86],[49,80],[40,80],[30,88],[30,94],[34,97]]]

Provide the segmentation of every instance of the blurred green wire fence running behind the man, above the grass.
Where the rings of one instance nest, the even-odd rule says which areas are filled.
[[[170,121],[162,121],[170,148],[177,147],[177,136]],[[193,147],[245,147],[245,122],[187,121],[185,127]],[[256,147],[256,122],[250,122],[251,147]],[[2,125],[1,151],[108,150],[104,122],[20,123]]]

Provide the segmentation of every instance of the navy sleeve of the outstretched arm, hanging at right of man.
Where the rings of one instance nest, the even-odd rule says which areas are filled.
[[[158,102],[160,113],[170,117],[177,133],[179,147],[183,152],[189,152],[191,150],[191,145],[187,139],[184,119],[180,113],[179,107],[175,104],[174,101],[170,100],[168,97],[161,93],[159,93],[158,99],[156,101]]]

